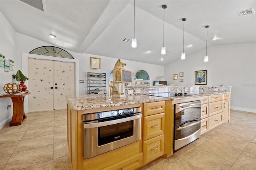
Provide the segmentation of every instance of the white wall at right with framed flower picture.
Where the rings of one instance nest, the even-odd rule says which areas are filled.
[[[231,109],[256,113],[256,43],[213,45],[207,48],[209,61],[204,62],[205,49],[164,66],[168,84],[194,85],[194,71],[207,70],[207,85],[232,86]],[[184,72],[173,80],[172,75]],[[179,82],[179,79],[184,82]]]

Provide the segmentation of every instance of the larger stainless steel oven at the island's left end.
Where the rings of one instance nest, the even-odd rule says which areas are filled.
[[[85,114],[84,159],[141,139],[141,107]]]

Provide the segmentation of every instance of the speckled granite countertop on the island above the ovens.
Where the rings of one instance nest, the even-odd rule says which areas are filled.
[[[155,101],[181,100],[190,98],[199,98],[206,95],[224,94],[230,92],[199,92],[198,95],[180,96],[180,97],[155,97],[149,95],[127,95],[118,98],[104,95],[70,95],[66,96],[66,101],[74,111],[96,109],[104,107],[132,105],[138,103],[149,103]]]

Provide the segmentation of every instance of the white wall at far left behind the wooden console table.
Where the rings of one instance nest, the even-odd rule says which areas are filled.
[[[21,65],[18,63],[16,56],[16,31],[10,23],[6,20],[2,12],[0,12],[0,53],[5,55],[5,59],[14,60],[14,70],[5,72],[3,67],[0,67],[0,95],[4,93],[3,87],[6,83],[13,82],[12,75],[16,74]],[[18,67],[17,67],[18,65]],[[0,128],[4,127],[12,119],[12,107],[6,109],[8,105],[12,106],[10,98],[0,98]]]

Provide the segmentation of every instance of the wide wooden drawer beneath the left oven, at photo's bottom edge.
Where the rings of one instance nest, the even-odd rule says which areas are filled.
[[[130,158],[120,161],[114,165],[108,166],[103,170],[136,170],[140,166],[142,166],[142,158],[143,158],[143,154],[141,152]]]

